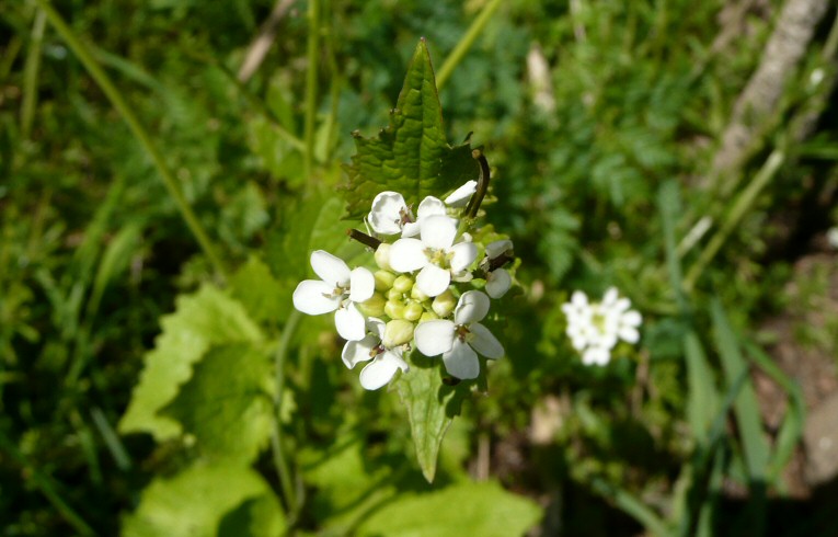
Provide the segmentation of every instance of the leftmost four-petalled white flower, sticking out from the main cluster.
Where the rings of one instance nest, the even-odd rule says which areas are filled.
[[[320,281],[300,282],[294,290],[294,307],[310,316],[334,311],[334,324],[341,338],[364,339],[364,316],[355,302],[372,296],[376,288],[372,273],[363,266],[349,271],[342,259],[323,250],[311,252],[311,267]]]

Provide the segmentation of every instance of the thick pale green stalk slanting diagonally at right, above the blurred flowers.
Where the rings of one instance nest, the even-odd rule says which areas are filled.
[[[762,192],[762,188],[768,184],[771,178],[774,176],[784,161],[785,153],[783,153],[781,149],[774,149],[771,152],[768,160],[766,160],[766,163],[762,164],[762,168],[754,176],[754,180],[743,191],[733,207],[731,207],[727,218],[722,222],[722,226],[715,232],[713,238],[710,239],[710,242],[708,242],[707,247],[701,251],[699,259],[690,267],[687,277],[684,279],[685,289],[690,290],[693,288],[698,278],[704,272],[704,268],[707,268],[707,265],[710,264],[710,261],[712,261],[715,254],[719,253],[722,244],[724,244],[727,237],[739,224],[745,214],[753,207],[759,193]]]

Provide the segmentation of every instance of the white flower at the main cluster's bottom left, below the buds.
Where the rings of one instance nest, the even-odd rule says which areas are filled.
[[[361,362],[369,362],[360,372],[360,386],[366,390],[377,390],[389,382],[398,369],[407,373],[410,366],[402,357],[401,349],[384,349],[381,344],[384,335],[381,319],[370,317],[367,328],[370,333],[363,340],[346,342],[341,358],[349,369]]]

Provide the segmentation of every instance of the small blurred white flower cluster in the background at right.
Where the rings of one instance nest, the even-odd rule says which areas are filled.
[[[628,298],[620,298],[615,287],[609,288],[601,302],[589,302],[583,292],[574,292],[571,301],[562,305],[567,318],[567,336],[573,347],[582,353],[585,365],[606,365],[611,350],[619,340],[636,343],[638,328],[643,319],[631,308]]]

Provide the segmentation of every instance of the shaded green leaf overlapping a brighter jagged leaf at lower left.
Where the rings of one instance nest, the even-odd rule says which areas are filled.
[[[271,357],[249,343],[215,346],[162,411],[197,439],[200,453],[251,462],[273,420]]]

